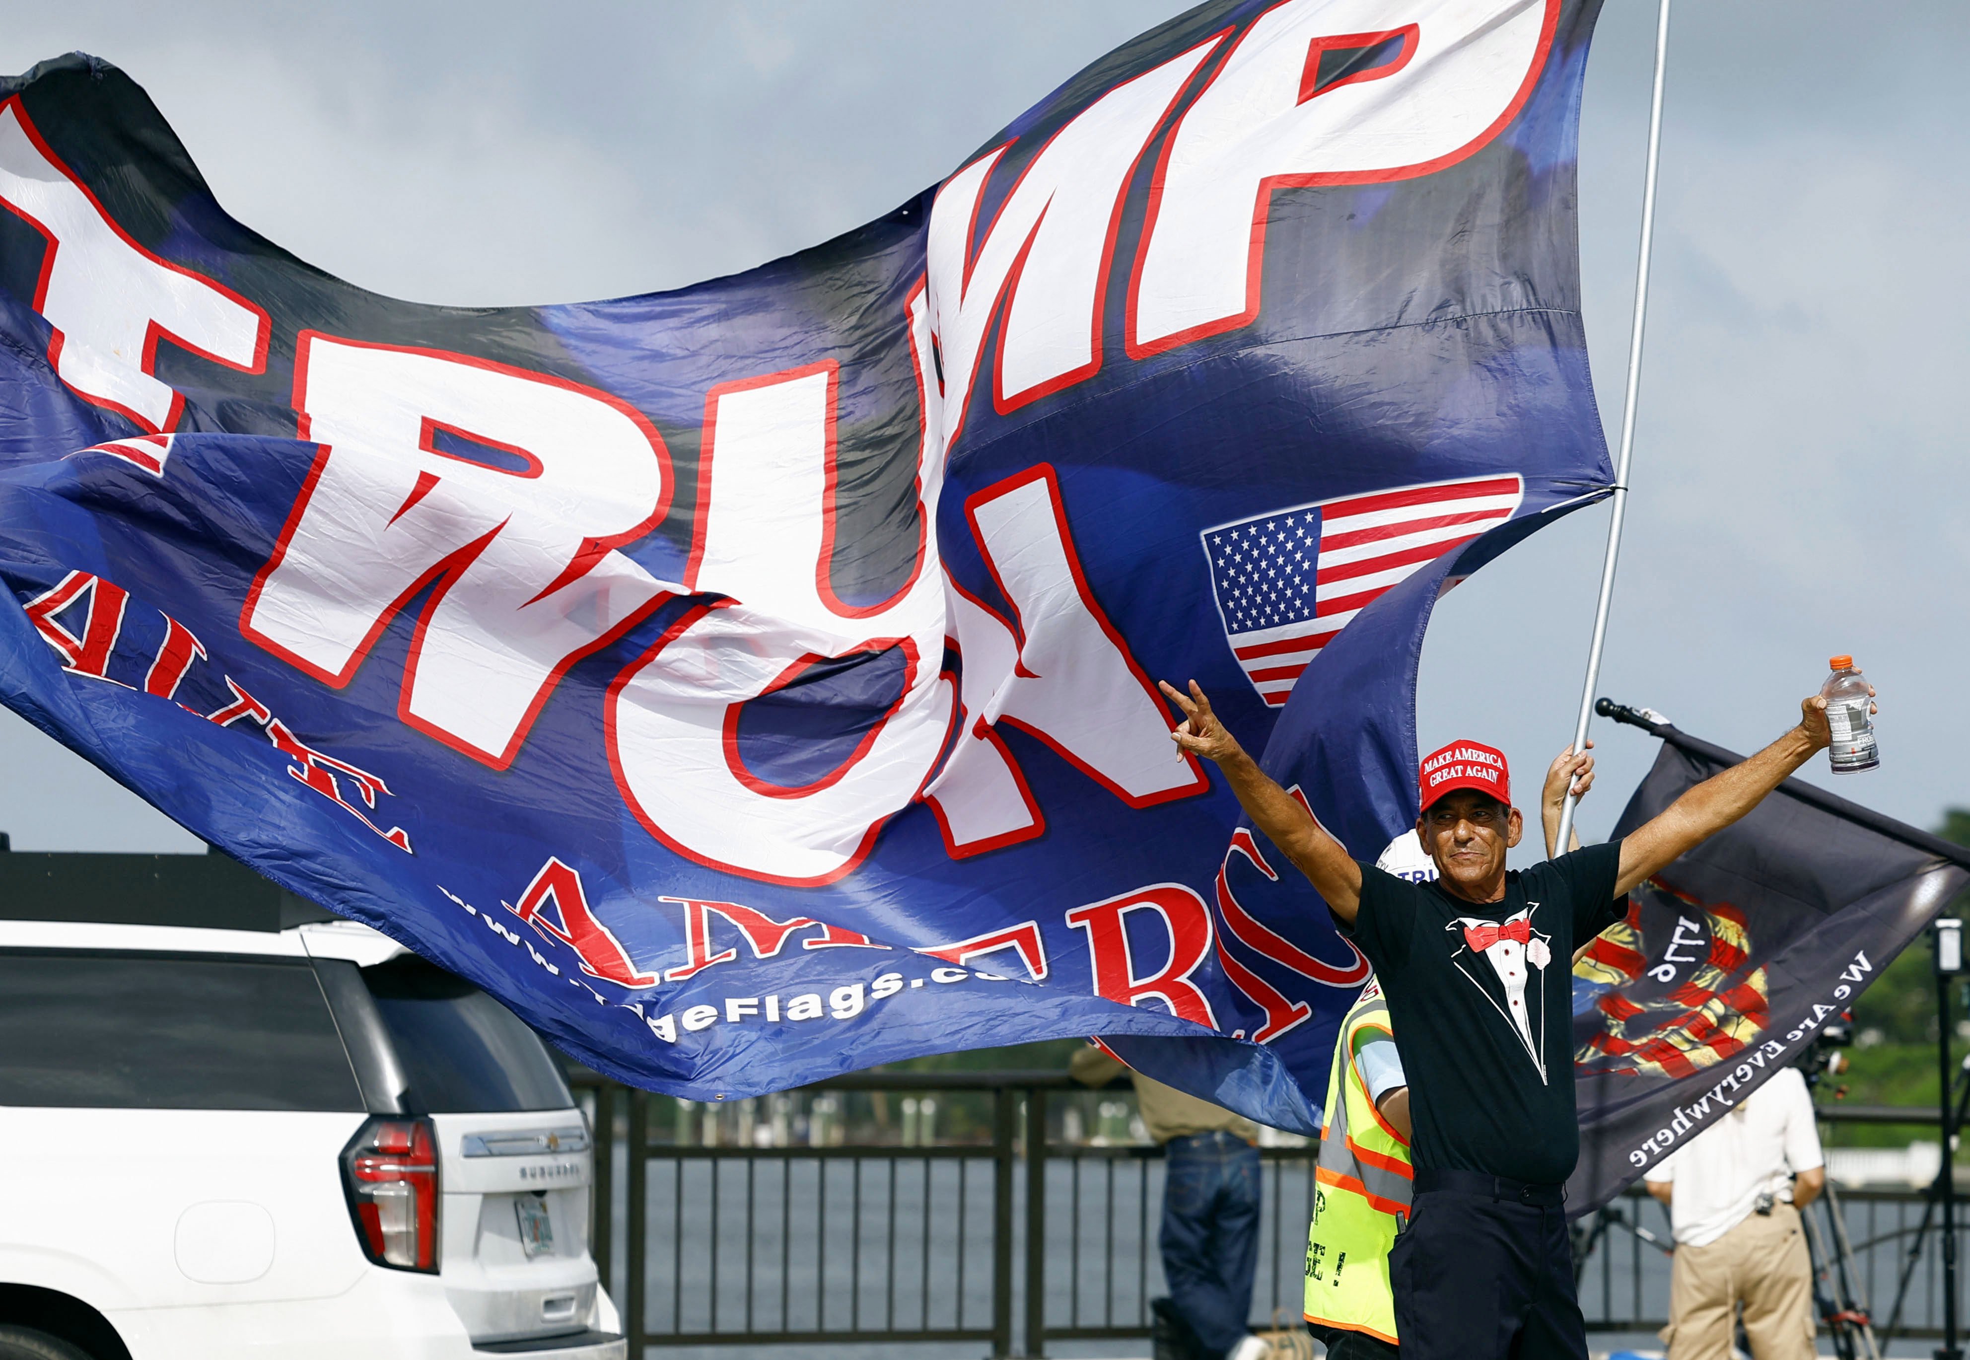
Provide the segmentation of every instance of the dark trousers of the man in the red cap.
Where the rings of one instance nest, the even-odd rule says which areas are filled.
[[[1405,1360],[1588,1360],[1560,1187],[1418,1171],[1389,1283]]]

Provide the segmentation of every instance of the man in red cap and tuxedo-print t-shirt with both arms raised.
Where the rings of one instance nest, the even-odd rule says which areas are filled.
[[[1414,1196],[1389,1258],[1411,1360],[1586,1360],[1564,1183],[1580,1157],[1572,1068],[1574,948],[1615,901],[1724,830],[1828,741],[1826,702],[1751,759],[1696,784],[1619,842],[1525,871],[1505,757],[1454,741],[1418,771],[1416,836],[1436,863],[1414,883],[1355,861],[1212,714],[1196,680],[1164,694],[1172,739],[1215,761],[1263,832],[1326,899],[1375,966],[1403,1035]],[[1578,757],[1582,769],[1588,757]]]

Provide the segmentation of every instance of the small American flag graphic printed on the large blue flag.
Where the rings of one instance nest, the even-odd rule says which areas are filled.
[[[1525,499],[1517,475],[1397,487],[1316,501],[1206,528],[1204,556],[1225,639],[1273,708],[1336,633],[1383,591],[1503,524]]]

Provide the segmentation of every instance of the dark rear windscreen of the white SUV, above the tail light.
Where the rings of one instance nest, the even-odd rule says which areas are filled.
[[[575,1104],[540,1037],[463,978],[410,954],[364,968],[362,978],[416,1110],[504,1114]]]

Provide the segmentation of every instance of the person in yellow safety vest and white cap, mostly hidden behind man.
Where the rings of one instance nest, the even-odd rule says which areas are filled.
[[[1548,855],[1558,842],[1568,761],[1568,755],[1554,759],[1539,804]],[[1576,832],[1572,844],[1578,842]],[[1436,877],[1436,863],[1414,832],[1389,842],[1375,867],[1414,883]],[[1401,1342],[1389,1252],[1409,1220],[1412,1173],[1409,1082],[1375,978],[1342,1017],[1324,1110],[1314,1220],[1306,1230],[1306,1326],[1326,1344],[1328,1360],[1391,1360]]]

